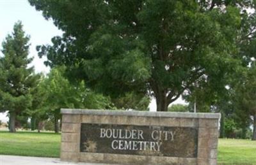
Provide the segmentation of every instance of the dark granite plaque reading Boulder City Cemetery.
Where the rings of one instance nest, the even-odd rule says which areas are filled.
[[[195,127],[81,124],[80,152],[197,157]]]

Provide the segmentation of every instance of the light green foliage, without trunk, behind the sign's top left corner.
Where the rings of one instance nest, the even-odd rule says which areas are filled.
[[[83,81],[75,85],[70,83],[63,76],[64,73],[65,67],[54,68],[42,82],[46,98],[45,109],[51,109],[50,111],[60,111],[60,108],[106,109],[111,106],[107,97],[87,89]]]

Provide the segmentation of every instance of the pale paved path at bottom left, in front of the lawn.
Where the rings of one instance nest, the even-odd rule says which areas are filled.
[[[0,165],[106,165],[97,163],[83,163],[83,162],[61,162],[57,158],[48,157],[23,157],[0,155]]]

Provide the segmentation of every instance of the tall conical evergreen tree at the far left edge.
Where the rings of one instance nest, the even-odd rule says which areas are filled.
[[[37,76],[28,65],[29,36],[22,29],[21,22],[15,23],[13,33],[3,41],[3,57],[0,57],[0,110],[8,111],[10,132],[15,132],[17,115],[31,106],[31,89]]]

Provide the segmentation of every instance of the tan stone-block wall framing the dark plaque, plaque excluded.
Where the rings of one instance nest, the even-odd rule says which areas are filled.
[[[220,114],[151,113],[138,111],[61,110],[61,161],[113,164],[217,164]],[[136,126],[194,127],[198,129],[196,158],[80,152],[81,123]],[[184,151],[186,152],[186,151]]]

